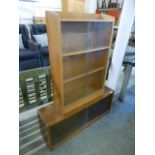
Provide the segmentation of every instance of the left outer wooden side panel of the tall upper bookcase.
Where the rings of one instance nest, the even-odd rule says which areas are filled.
[[[54,105],[61,111],[64,103],[60,16],[46,11],[49,59],[54,89]]]

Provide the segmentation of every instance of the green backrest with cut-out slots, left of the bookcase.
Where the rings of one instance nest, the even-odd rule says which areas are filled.
[[[43,74],[46,75],[47,99],[41,100],[40,98],[41,96],[39,93],[39,78],[38,77],[39,75],[43,75]],[[28,94],[27,94],[27,88],[26,88],[26,79],[28,78],[34,79],[35,93],[36,93],[37,100],[33,104],[30,104],[28,101]],[[37,68],[37,69],[20,72],[19,73],[19,85],[20,85],[20,88],[23,94],[23,100],[24,100],[24,107],[20,109],[20,112],[52,101],[50,67],[43,67],[43,68]]]

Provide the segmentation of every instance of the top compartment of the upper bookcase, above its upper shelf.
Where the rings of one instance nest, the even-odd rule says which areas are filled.
[[[109,46],[111,31],[110,22],[63,22],[63,53]]]

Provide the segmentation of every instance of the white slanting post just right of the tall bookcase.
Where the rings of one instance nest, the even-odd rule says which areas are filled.
[[[125,0],[121,13],[119,29],[114,47],[112,64],[109,70],[107,86],[116,90],[121,66],[129,40],[132,24],[135,16],[135,1]]]

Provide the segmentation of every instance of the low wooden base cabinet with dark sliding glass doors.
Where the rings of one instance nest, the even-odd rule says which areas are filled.
[[[64,143],[109,113],[113,95],[114,91],[106,87],[100,98],[72,109],[67,115],[56,111],[53,105],[41,108],[38,111],[40,129],[49,149]]]

